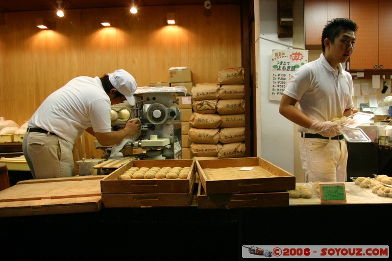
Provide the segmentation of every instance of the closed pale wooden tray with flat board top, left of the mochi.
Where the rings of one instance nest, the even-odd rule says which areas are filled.
[[[0,191],[0,216],[97,212],[103,176],[20,181]]]

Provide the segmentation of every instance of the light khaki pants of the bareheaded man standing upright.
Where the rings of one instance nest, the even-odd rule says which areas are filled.
[[[345,182],[348,154],[344,139],[301,138],[299,151],[305,182]]]

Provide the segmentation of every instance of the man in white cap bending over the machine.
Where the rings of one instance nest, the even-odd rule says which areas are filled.
[[[131,119],[112,131],[111,105],[127,100],[135,105],[137,84],[123,69],[102,77],[80,76],[49,95],[28,122],[23,154],[34,178],[74,176],[73,146],[83,131],[102,146],[121,142],[140,130]]]

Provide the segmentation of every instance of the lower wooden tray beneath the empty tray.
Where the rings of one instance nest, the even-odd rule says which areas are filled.
[[[207,195],[203,186],[197,189],[198,209],[235,209],[289,205],[289,192]]]

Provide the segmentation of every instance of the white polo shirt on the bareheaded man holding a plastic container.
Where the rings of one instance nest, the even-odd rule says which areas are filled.
[[[331,67],[321,53],[319,59],[295,71],[284,91],[299,102],[299,109],[310,119],[328,121],[343,117],[345,109],[354,107],[351,74]],[[309,132],[298,126],[299,132]]]

